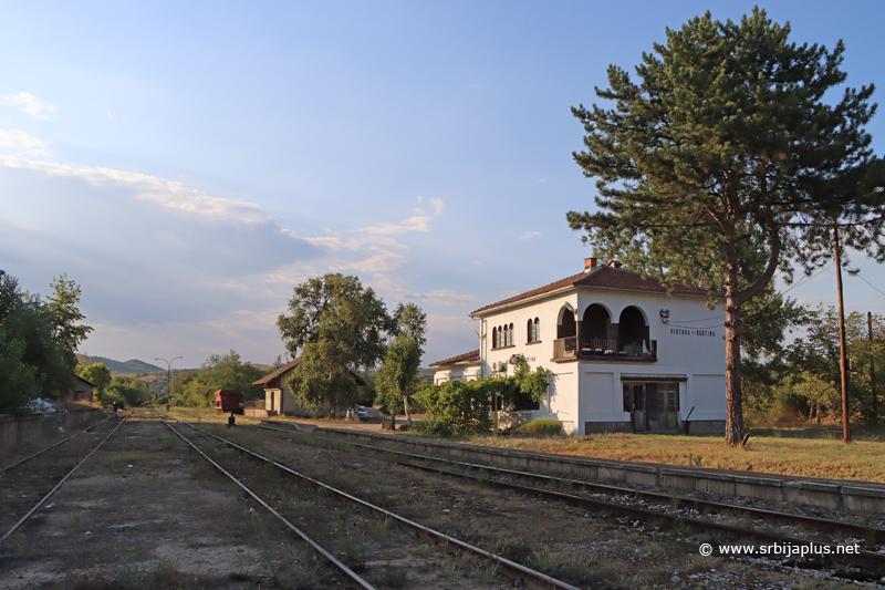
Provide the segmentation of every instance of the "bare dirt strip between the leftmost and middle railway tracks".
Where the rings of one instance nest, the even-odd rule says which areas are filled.
[[[279,547],[279,527],[174,436],[124,424],[0,546],[0,589],[275,586],[259,529]]]

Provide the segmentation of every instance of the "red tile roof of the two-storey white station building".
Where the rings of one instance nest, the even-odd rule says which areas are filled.
[[[655,278],[649,277],[647,279],[643,279],[642,275],[639,275],[638,272],[622,270],[620,268],[614,268],[614,267],[600,266],[595,267],[590,272],[579,272],[577,275],[572,275],[571,277],[558,280],[556,282],[551,282],[550,284],[545,284],[544,287],[539,287],[538,289],[533,289],[522,294],[504,299],[503,301],[498,301],[497,303],[486,306],[485,308],[479,308],[478,310],[471,312],[470,315],[473,315],[475,313],[479,313],[482,311],[488,311],[490,309],[494,309],[501,306],[506,306],[509,303],[516,303],[524,299],[531,299],[532,297],[535,296],[550,293],[553,291],[558,291],[560,289],[565,289],[568,287],[582,287],[587,289],[594,289],[594,288],[614,289],[620,291],[649,291],[656,293],[667,292],[667,288],[660,284],[660,281]],[[707,297],[709,294],[706,289],[700,289],[699,287],[673,284],[671,288],[674,294],[693,296],[693,297]]]

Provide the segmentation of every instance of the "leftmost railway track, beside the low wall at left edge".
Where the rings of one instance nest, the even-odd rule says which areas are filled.
[[[18,530],[34,513],[37,513],[38,509],[40,509],[41,506],[44,506],[52,495],[55,494],[55,491],[58,491],[59,488],[61,488],[64,483],[67,482],[67,479],[80,468],[80,466],[83,465],[96,451],[98,451],[98,448],[101,448],[102,445],[104,445],[115,432],[117,432],[117,429],[126,422],[126,420],[128,420],[131,415],[132,412],[126,414],[123,420],[116,423],[111,423],[112,427],[110,432],[107,432],[107,434],[95,446],[90,447],[91,443],[94,441],[83,441],[84,444],[80,446],[61,446],[62,443],[71,441],[76,436],[75,435],[6,467],[3,469],[3,475],[0,478],[0,497],[3,498],[4,508],[3,513],[0,514],[0,530],[6,529],[3,536],[0,537],[0,544],[10,538],[15,530]],[[105,421],[102,421],[102,423],[104,422]],[[97,426],[97,424],[95,426]],[[86,428],[86,431],[90,431],[95,426]],[[104,433],[95,434],[101,436],[101,434]],[[83,453],[85,452],[83,447],[88,449],[88,453],[86,453],[85,456],[83,456]],[[49,455],[45,454],[52,449],[54,449],[55,453],[50,453]],[[38,456],[40,457],[40,460],[37,463],[31,463],[31,460]],[[69,468],[71,464],[74,465],[73,467]],[[38,479],[38,482],[33,482],[33,479]],[[45,483],[46,479],[56,483],[49,491],[44,493],[43,490],[45,490],[50,484],[42,485],[41,482]],[[32,504],[33,498],[35,497],[39,497],[40,499],[37,501],[37,504]],[[19,516],[22,513],[24,514]],[[10,522],[12,522],[11,526]]]

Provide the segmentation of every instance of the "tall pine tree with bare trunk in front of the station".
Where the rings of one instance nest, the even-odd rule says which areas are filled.
[[[740,23],[708,12],[667,30],[636,68],[638,83],[608,68],[596,89],[606,110],[573,108],[586,149],[574,158],[597,178],[597,213],[568,214],[597,253],[642,252],[665,282],[681,266],[721,259],[726,297],[726,441],[742,431],[741,309],[793,263],[810,271],[830,250],[836,220],[843,244],[885,259],[881,166],[864,125],[873,87],[842,84],[844,46],[789,43],[790,27],[754,9]],[[860,205],[863,204],[863,205]],[[761,236],[767,260],[741,269]],[[712,267],[715,268],[715,267]]]

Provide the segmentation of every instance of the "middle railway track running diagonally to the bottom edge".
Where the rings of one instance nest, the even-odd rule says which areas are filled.
[[[158,416],[158,418],[159,418],[159,416]],[[159,420],[163,421],[163,418],[159,418]],[[360,578],[355,572],[353,572],[346,566],[344,566],[340,561],[335,560],[334,556],[332,556],[331,551],[324,550],[324,549],[323,550],[319,549],[319,545],[316,545],[314,541],[310,540],[309,537],[301,529],[295,527],[291,521],[287,520],[282,515],[280,515],[277,510],[274,510],[271,507],[270,503],[266,501],[264,499],[259,498],[258,495],[256,495],[252,490],[250,490],[244,484],[239,482],[237,479],[237,477],[235,477],[230,473],[226,472],[218,463],[212,460],[206,453],[204,453],[196,445],[194,445],[180,432],[176,431],[168,422],[166,422],[166,421],[163,421],[163,422],[164,422],[164,424],[167,425],[167,427],[169,427],[170,429],[176,432],[183,439],[187,441],[188,444],[190,444],[196,451],[198,451],[207,460],[212,463],[212,465],[217,469],[221,470],[222,473],[225,473],[225,475],[227,475],[229,478],[235,480],[238,486],[240,486],[253,499],[259,501],[262,507],[264,507],[266,509],[270,510],[274,516],[277,516],[277,518],[279,518],[281,521],[283,521],[284,525],[288,528],[290,528],[293,532],[299,535],[299,537],[301,537],[302,539],[306,540],[308,542],[311,542],[311,545],[315,549],[317,549],[317,551],[321,551],[322,555],[324,557],[326,557],[326,559],[329,559],[330,561],[335,563],[335,566],[339,567],[343,572],[345,572],[355,583],[360,584],[363,588],[366,588],[363,584],[366,584],[367,582],[365,582],[364,579]],[[284,474],[285,476],[296,478],[301,484],[306,484],[308,486],[310,486],[313,489],[320,489],[320,490],[325,491],[326,494],[333,496],[337,500],[341,500],[341,501],[344,501],[344,503],[348,504],[351,506],[350,509],[364,510],[366,513],[374,514],[378,518],[393,521],[393,522],[395,522],[396,525],[398,525],[400,527],[409,529],[414,535],[416,535],[418,537],[431,540],[434,544],[437,544],[437,545],[446,546],[449,550],[455,551],[456,553],[470,555],[470,556],[472,556],[473,558],[476,558],[478,560],[478,563],[482,563],[482,562],[490,563],[496,569],[499,568],[501,570],[501,572],[503,572],[507,576],[518,580],[519,583],[524,586],[524,587],[537,588],[537,589],[545,589],[545,590],[549,590],[549,589],[554,589],[554,590],[576,590],[576,588],[574,586],[565,583],[565,582],[563,582],[561,580],[558,580],[558,579],[555,579],[553,577],[546,576],[546,575],[544,575],[542,572],[535,571],[535,570],[533,570],[531,568],[522,566],[522,565],[520,565],[520,563],[518,563],[516,561],[509,560],[507,558],[503,558],[503,557],[501,557],[499,555],[496,555],[496,553],[493,553],[491,551],[481,549],[479,547],[475,547],[475,546],[472,546],[472,545],[470,545],[470,544],[468,544],[468,542],[466,542],[464,540],[457,539],[457,538],[455,538],[452,536],[445,535],[445,534],[439,532],[437,530],[434,530],[434,529],[431,529],[429,527],[423,526],[423,525],[420,525],[418,522],[415,522],[413,520],[404,518],[403,516],[399,516],[399,515],[397,515],[397,514],[395,514],[395,513],[393,513],[391,510],[387,510],[385,508],[382,508],[382,507],[375,506],[373,504],[369,504],[368,501],[366,501],[364,499],[357,498],[357,497],[355,497],[355,496],[353,496],[351,494],[347,494],[345,491],[336,489],[336,488],[334,488],[334,487],[332,487],[332,486],[330,486],[327,484],[324,484],[324,483],[322,483],[322,482],[320,482],[317,479],[314,479],[314,478],[309,477],[306,475],[303,475],[303,474],[301,474],[299,472],[295,472],[294,469],[292,469],[292,468],[290,468],[290,467],[288,467],[285,465],[282,465],[282,464],[280,464],[278,462],[273,462],[273,460],[271,460],[271,459],[269,459],[269,458],[267,458],[267,457],[264,457],[264,456],[262,456],[262,455],[260,455],[258,453],[254,453],[254,452],[246,448],[242,445],[239,445],[239,444],[237,444],[237,443],[235,443],[232,441],[229,441],[229,439],[222,438],[222,437],[220,437],[218,435],[215,435],[215,434],[212,434],[212,433],[210,433],[208,431],[205,431],[205,429],[202,429],[202,428],[200,428],[198,426],[195,426],[194,424],[190,424],[190,423],[187,423],[187,422],[183,422],[183,421],[177,421],[177,422],[180,423],[180,424],[185,424],[185,425],[189,426],[190,428],[192,428],[194,431],[199,432],[199,433],[201,433],[201,434],[204,434],[204,435],[206,435],[208,437],[211,437],[211,438],[222,443],[223,445],[226,445],[229,448],[237,449],[238,452],[242,453],[244,456],[248,456],[253,460],[261,462],[261,463],[263,463],[266,465],[270,465],[270,466],[272,466],[273,469]]]

